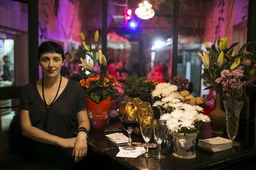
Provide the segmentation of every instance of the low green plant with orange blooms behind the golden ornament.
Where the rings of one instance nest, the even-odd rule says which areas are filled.
[[[156,79],[139,78],[137,75],[130,75],[126,78],[123,90],[129,97],[139,97],[142,101],[151,103],[151,92],[158,83],[160,81]]]

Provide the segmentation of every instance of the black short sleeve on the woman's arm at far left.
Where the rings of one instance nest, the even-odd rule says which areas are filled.
[[[29,102],[29,86],[23,86],[20,90],[19,94],[19,104],[20,104],[20,109],[22,110],[29,110],[30,107],[30,102]]]

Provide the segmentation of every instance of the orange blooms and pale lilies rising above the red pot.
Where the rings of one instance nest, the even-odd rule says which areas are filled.
[[[102,54],[101,49],[98,49],[100,46],[98,43],[98,31],[94,34],[94,41],[90,45],[86,44],[83,33],[80,33],[80,36],[83,49],[76,49],[72,54],[82,54],[85,57],[89,57],[89,59],[80,58],[82,71],[89,71],[89,74],[86,75],[84,73],[83,78],[80,80],[81,86],[85,88],[86,97],[96,103],[100,103],[108,97],[116,97],[118,91],[115,87],[122,87],[123,84],[109,74],[106,68],[107,59]]]

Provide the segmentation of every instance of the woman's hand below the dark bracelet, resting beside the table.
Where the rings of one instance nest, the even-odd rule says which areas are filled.
[[[87,141],[86,141],[87,134],[83,131],[80,131],[77,134],[75,147],[73,148],[73,155],[75,156],[75,163],[80,162],[86,154],[87,154]]]

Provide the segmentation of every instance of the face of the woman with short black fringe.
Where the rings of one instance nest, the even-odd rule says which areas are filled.
[[[61,58],[61,54],[48,52],[41,54],[39,63],[42,67],[43,74],[53,77],[60,74],[63,59]]]

